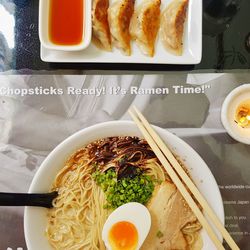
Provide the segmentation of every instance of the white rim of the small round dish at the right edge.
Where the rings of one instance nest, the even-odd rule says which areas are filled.
[[[230,92],[222,105],[221,121],[233,139],[250,145],[250,128],[243,128],[235,121],[238,107],[247,100],[250,100],[250,84],[241,85]]]

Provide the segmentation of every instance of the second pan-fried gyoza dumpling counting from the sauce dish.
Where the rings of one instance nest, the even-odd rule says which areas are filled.
[[[134,13],[135,0],[117,0],[108,10],[110,32],[115,47],[131,55],[129,25]]]

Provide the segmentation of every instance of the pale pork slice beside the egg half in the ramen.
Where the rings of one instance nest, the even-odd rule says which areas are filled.
[[[141,249],[188,249],[181,229],[187,223],[195,222],[196,217],[175,185],[164,182],[155,188],[147,207],[151,214],[152,226]]]

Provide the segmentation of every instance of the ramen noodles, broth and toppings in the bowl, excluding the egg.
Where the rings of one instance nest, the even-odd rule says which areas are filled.
[[[55,190],[46,230],[53,249],[106,249],[105,221],[129,202],[144,204],[151,214],[142,250],[202,249],[200,223],[143,139],[109,137],[79,149],[58,173]],[[135,243],[134,230],[132,236]]]

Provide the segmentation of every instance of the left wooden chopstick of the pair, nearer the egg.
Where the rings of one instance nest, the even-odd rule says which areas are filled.
[[[160,150],[160,148],[157,146],[157,144],[155,143],[155,141],[153,140],[151,135],[148,133],[148,131],[146,130],[144,125],[141,123],[141,121],[137,118],[137,116],[133,113],[132,110],[129,110],[128,112],[129,112],[130,116],[132,117],[132,119],[134,120],[134,122],[136,123],[136,125],[138,126],[138,128],[140,129],[144,138],[147,140],[148,144],[150,145],[150,147],[154,151],[155,155],[157,156],[157,158],[159,159],[161,164],[166,169],[166,171],[167,171],[168,175],[170,176],[170,178],[172,179],[173,183],[176,185],[177,189],[179,190],[179,192],[181,193],[183,198],[186,200],[189,207],[194,212],[195,216],[197,217],[197,219],[201,223],[202,227],[207,231],[208,235],[210,236],[211,240],[214,242],[217,249],[225,250],[222,243],[220,242],[220,240],[217,238],[216,234],[214,233],[212,227],[210,226],[210,224],[207,222],[207,220],[203,216],[201,210],[199,209],[199,207],[197,206],[197,204],[195,203],[195,201],[193,200],[193,198],[191,197],[191,195],[189,194],[189,192],[185,188],[184,184],[182,183],[182,181],[180,180],[180,178],[178,177],[178,175],[176,174],[176,172],[174,171],[174,169],[172,168],[172,166],[170,165],[168,160],[165,158],[165,156],[162,153],[162,151]]]

